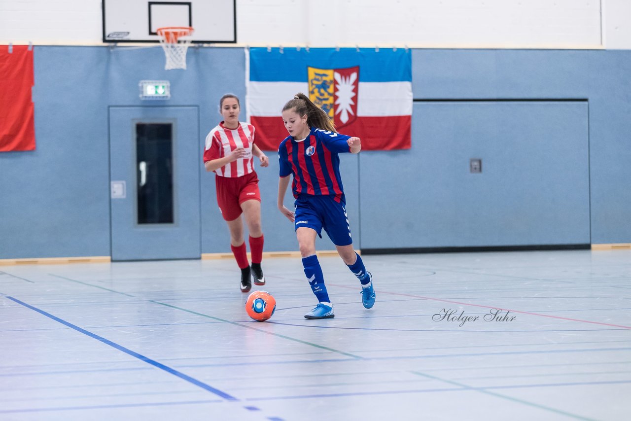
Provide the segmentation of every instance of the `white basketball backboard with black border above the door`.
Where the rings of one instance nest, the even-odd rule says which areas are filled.
[[[194,27],[192,42],[237,42],[236,0],[102,0],[103,42],[159,42],[156,29]]]

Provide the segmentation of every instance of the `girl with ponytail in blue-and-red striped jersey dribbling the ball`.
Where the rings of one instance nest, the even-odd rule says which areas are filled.
[[[278,209],[295,225],[305,275],[319,301],[305,314],[305,318],[334,317],[322,268],[315,255],[315,235],[322,238],[322,228],[335,244],[344,263],[362,283],[362,303],[370,309],[375,304],[372,275],[366,271],[362,258],[353,249],[338,157],[338,153],[343,152],[359,153],[361,140],[336,133],[326,112],[304,93],[298,93],[285,104],[283,122],[290,135],[278,148]],[[293,174],[295,213],[283,205],[290,174]]]

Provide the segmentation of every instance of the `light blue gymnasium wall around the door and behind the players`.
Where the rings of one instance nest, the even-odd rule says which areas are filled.
[[[218,98],[244,98],[243,49],[191,49],[186,71],[163,61],[158,48],[35,47],[37,150],[0,154],[0,259],[110,255],[107,109],[159,106],[139,100],[139,80],[170,80],[165,105],[199,107],[200,148]],[[343,160],[356,244],[631,242],[628,74],[626,50],[415,50],[411,150]],[[266,250],[295,250],[268,156]],[[468,172],[469,158],[482,158],[482,174]],[[213,175],[191,165],[201,173],[201,251],[227,252]]]

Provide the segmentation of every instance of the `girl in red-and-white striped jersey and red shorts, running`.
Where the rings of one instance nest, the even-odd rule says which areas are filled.
[[[261,167],[267,167],[269,160],[254,143],[254,126],[239,121],[239,98],[227,93],[221,97],[219,108],[223,121],[206,136],[204,166],[206,171],[216,174],[217,203],[221,216],[228,223],[230,248],[241,269],[240,289],[248,292],[252,287],[250,276],[255,285],[265,285],[261,269],[261,193],[252,156],[261,160]],[[252,266],[245,251],[242,213],[249,230]]]

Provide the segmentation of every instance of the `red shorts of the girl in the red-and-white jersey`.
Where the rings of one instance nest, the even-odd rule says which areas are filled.
[[[217,204],[221,216],[227,221],[232,221],[241,215],[241,204],[247,200],[261,201],[259,192],[259,177],[256,172],[245,174],[242,177],[221,177],[215,175],[217,190]]]

